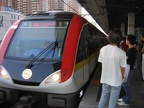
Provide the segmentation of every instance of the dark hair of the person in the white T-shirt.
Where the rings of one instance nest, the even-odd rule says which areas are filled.
[[[119,29],[113,29],[109,33],[109,42],[119,46],[122,40],[122,32]]]

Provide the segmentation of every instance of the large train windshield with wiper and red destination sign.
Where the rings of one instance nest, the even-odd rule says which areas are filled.
[[[22,21],[7,50],[6,57],[37,60],[60,59],[69,21]]]

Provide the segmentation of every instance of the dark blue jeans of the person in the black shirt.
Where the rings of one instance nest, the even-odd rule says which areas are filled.
[[[124,97],[122,97],[122,99],[123,99],[123,102],[125,102],[126,104],[129,104],[130,99],[131,99],[130,83],[131,83],[131,78],[132,78],[133,74],[134,74],[134,70],[130,70],[127,82],[123,82],[123,84],[122,84],[122,86],[125,90],[125,93],[126,93],[126,95]]]

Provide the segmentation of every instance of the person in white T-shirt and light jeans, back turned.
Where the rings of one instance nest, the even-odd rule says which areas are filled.
[[[118,46],[122,38],[120,30],[112,30],[109,44],[100,50],[98,61],[102,63],[102,95],[98,108],[105,108],[109,99],[109,108],[116,108],[126,67],[126,54]]]

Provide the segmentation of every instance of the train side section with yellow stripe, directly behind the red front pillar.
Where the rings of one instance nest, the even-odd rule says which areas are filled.
[[[89,79],[89,48],[87,40],[87,27],[81,31],[75,66],[75,81],[81,87]]]

